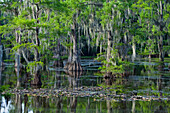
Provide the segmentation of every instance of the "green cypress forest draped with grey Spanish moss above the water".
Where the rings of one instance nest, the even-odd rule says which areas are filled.
[[[136,58],[164,61],[169,23],[169,0],[1,0],[0,64],[30,71],[68,58],[65,69],[82,70],[81,57],[96,56],[118,73]]]

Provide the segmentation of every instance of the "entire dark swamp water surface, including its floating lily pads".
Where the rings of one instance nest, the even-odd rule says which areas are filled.
[[[1,89],[19,90],[12,95],[0,94],[0,112],[169,113],[170,64],[134,64],[126,76],[113,79],[104,79],[97,69],[101,64],[93,60],[82,60],[85,71],[79,73],[50,67],[41,72],[41,88],[30,86],[28,74],[21,72],[17,76],[13,66],[8,65],[0,69]]]

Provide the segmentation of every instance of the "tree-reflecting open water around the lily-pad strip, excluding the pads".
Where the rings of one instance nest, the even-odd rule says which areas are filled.
[[[166,65],[153,62],[137,62],[134,70],[125,73],[122,77],[111,77],[109,79],[96,76],[96,71],[69,71],[51,70],[48,72],[37,71],[34,79],[29,73],[14,71],[14,68],[6,67],[4,71],[0,68],[0,84],[10,85],[11,88],[32,88],[32,83],[42,83],[41,88],[59,89],[76,88],[81,86],[104,86],[112,87],[115,94],[128,94],[153,96],[155,98],[169,98],[170,84],[169,71]],[[31,82],[32,81],[32,82]],[[27,112],[57,112],[57,113],[79,113],[79,112],[170,112],[169,100],[148,101],[126,101],[106,99],[96,101],[87,97],[39,97],[28,95],[0,95],[1,112],[27,113]]]

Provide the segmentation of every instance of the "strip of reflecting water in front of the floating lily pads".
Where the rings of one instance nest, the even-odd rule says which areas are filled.
[[[168,113],[169,101],[120,101],[96,102],[92,98],[79,97],[29,97],[12,95],[1,97],[1,113]]]

